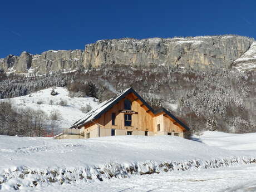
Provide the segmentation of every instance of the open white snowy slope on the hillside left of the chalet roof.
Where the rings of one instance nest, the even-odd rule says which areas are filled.
[[[65,87],[56,87],[55,91],[58,95],[52,96],[52,88],[46,88],[45,90],[31,93],[30,95],[14,97],[11,100],[15,107],[31,107],[34,110],[43,110],[47,115],[50,115],[52,111],[58,111],[61,114],[61,120],[58,121],[59,132],[62,128],[71,126],[74,122],[85,116],[85,113],[81,111],[81,107],[90,105],[95,107],[99,105],[97,99],[93,97],[70,97],[68,96],[68,90]],[[1,101],[6,101],[3,99]],[[66,102],[65,106],[60,105],[60,102]]]

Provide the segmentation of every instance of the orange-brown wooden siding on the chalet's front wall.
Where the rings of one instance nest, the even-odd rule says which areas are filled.
[[[125,126],[125,114],[120,112],[120,110],[124,110],[125,99],[129,99],[131,101],[131,110],[138,112],[138,114],[131,115],[131,126]],[[112,125],[112,113],[115,113],[116,115],[115,125]],[[160,131],[157,131],[158,124],[160,124]],[[133,93],[126,95],[124,99],[117,102],[116,105],[114,105],[109,111],[105,112],[105,114],[103,114],[99,119],[85,125],[85,136],[87,132],[91,131],[93,131],[94,135],[97,135],[95,130],[97,129],[98,125],[100,125],[101,129],[116,129],[119,131],[149,131],[156,135],[167,135],[168,132],[183,132],[185,130],[184,127],[176,124],[171,117],[165,114],[165,112],[154,115],[139,99],[136,98]],[[106,131],[102,131],[102,134],[105,136],[110,135],[110,130]]]

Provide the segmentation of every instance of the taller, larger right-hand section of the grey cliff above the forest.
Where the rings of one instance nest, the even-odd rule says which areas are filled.
[[[101,40],[86,45],[84,65],[215,65],[230,67],[253,40],[240,36]]]

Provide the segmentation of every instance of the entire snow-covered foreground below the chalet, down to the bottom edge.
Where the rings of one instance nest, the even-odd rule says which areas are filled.
[[[253,137],[204,132],[194,137],[198,142],[175,136],[0,136],[0,190],[256,191]]]

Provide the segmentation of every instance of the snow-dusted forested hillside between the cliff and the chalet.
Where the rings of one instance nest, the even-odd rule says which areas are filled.
[[[0,78],[2,99],[47,87],[66,86],[73,95],[104,101],[131,86],[153,107],[163,106],[185,121],[191,132],[256,131],[255,71],[239,72],[214,66],[106,65],[45,76],[7,77],[2,73]],[[1,112],[0,121],[3,120]]]

